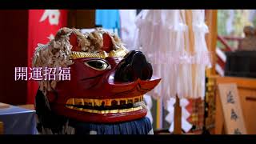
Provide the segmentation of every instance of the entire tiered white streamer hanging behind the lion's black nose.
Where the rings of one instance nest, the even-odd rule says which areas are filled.
[[[162,81],[150,92],[166,102],[204,98],[205,70],[210,66],[204,10],[142,10],[135,20],[134,47],[151,62]]]

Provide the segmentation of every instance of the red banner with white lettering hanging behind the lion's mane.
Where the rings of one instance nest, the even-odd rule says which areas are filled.
[[[38,43],[46,44],[56,32],[66,26],[67,10],[29,10],[28,67],[31,67]],[[34,104],[38,90],[36,81],[27,81],[27,103]]]

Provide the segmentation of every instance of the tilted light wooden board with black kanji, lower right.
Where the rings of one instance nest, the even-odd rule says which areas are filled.
[[[246,134],[241,102],[235,83],[218,84],[226,134]]]

